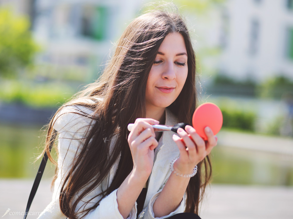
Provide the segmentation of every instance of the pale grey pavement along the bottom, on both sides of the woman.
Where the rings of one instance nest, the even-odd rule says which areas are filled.
[[[33,185],[31,180],[0,180],[0,217],[4,219],[23,218],[17,212],[24,212]],[[37,218],[51,201],[50,181],[42,180],[27,218]],[[262,187],[238,185],[211,185],[207,188],[201,206],[202,219],[292,219],[293,187]]]

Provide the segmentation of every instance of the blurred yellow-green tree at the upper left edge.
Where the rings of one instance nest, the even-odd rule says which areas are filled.
[[[32,63],[39,47],[29,31],[28,18],[16,17],[0,8],[0,77],[13,77],[18,69]]]

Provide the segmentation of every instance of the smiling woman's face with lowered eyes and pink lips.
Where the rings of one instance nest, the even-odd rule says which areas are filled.
[[[171,105],[180,94],[187,73],[184,38],[178,32],[168,34],[149,72],[146,88],[147,109],[165,108]]]

